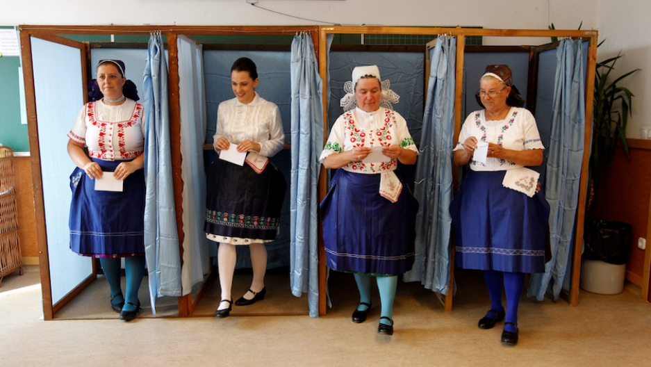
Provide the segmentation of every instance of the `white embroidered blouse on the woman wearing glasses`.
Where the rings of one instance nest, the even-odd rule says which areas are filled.
[[[459,142],[456,143],[454,150],[463,149],[463,142],[470,136],[511,150],[545,149],[536,119],[526,108],[511,107],[504,120],[492,121],[486,121],[484,111],[475,111],[468,115],[463,122]],[[488,157],[486,164],[470,160],[470,169],[473,171],[501,171],[522,167],[524,166],[500,158]]]

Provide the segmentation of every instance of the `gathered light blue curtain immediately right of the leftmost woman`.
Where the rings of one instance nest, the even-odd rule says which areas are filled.
[[[145,255],[151,310],[156,297],[181,295],[181,259],[176,233],[167,60],[160,33],[152,34],[142,79],[145,133]]]

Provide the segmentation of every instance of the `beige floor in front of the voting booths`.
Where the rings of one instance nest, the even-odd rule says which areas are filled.
[[[579,307],[523,298],[520,343],[504,347],[501,325],[477,328],[488,309],[481,276],[465,272],[457,280],[451,312],[420,284],[399,283],[389,337],[376,332],[377,294],[369,320],[350,321],[357,294],[345,274],[331,277],[333,308],[320,318],[233,312],[221,320],[45,322],[38,270],[28,267],[0,288],[0,366],[646,366],[651,359],[651,305],[636,286],[619,295],[582,291]],[[282,309],[283,298],[251,307]]]

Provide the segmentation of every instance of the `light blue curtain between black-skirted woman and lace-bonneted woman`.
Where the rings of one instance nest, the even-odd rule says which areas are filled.
[[[322,80],[309,33],[292,41],[292,168],[290,183],[290,283],[308,293],[311,317],[319,316],[317,185],[323,146]]]

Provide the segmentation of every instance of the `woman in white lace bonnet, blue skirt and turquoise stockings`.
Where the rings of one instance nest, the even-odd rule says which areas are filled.
[[[375,65],[355,67],[341,100],[346,111],[334,123],[320,162],[337,169],[321,202],[327,265],[353,272],[360,300],[352,314],[363,323],[371,309],[376,278],[381,299],[377,331],[393,334],[397,275],[414,259],[418,202],[397,163],[413,165],[418,149],[406,121],[390,102],[399,98]]]

